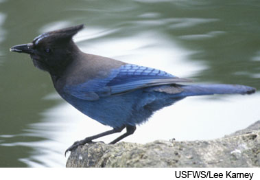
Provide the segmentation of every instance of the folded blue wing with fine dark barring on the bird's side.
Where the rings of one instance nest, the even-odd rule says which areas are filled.
[[[107,78],[96,78],[80,85],[66,86],[64,91],[83,100],[98,100],[99,97],[177,82],[189,82],[189,80],[158,69],[127,64],[113,69]]]

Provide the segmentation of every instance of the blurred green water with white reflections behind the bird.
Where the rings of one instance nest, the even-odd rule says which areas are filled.
[[[27,55],[9,52],[11,46],[84,23],[86,28],[75,36],[84,52],[156,67],[194,82],[259,89],[259,19],[260,3],[250,0],[0,0],[0,167],[64,167],[67,146],[87,133],[109,129],[61,100],[49,75],[34,68]],[[221,137],[259,120],[259,105],[259,93],[185,100],[154,115],[126,140],[149,142],[157,139],[145,139],[152,134],[158,139]],[[161,115],[183,124],[163,122]],[[149,132],[154,126],[158,132]],[[160,137],[169,126],[175,133],[168,130]]]

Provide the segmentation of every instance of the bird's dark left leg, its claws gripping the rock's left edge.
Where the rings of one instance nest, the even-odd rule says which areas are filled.
[[[74,144],[72,144],[69,148],[67,148],[67,150],[65,151],[65,156],[66,154],[68,153],[68,151],[72,151],[74,150],[75,148],[77,148],[78,146],[81,146],[81,145],[84,145],[86,143],[93,143],[92,140],[93,139],[97,139],[99,137],[103,137],[103,136],[106,136],[106,135],[111,135],[113,133],[120,133],[123,128],[125,128],[126,126],[122,126],[121,128],[113,128],[109,131],[105,131],[104,133],[99,133],[97,135],[93,135],[93,136],[90,136],[90,137],[86,137],[85,139],[83,140],[80,140],[80,141],[77,141],[77,142],[74,142]],[[121,138],[123,139],[123,138]],[[120,140],[120,139],[119,139]]]

